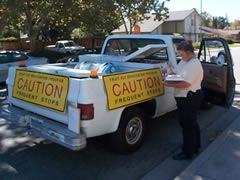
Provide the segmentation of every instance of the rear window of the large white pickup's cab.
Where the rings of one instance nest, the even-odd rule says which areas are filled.
[[[127,56],[149,44],[165,43],[159,39],[110,39],[106,45],[104,54]]]

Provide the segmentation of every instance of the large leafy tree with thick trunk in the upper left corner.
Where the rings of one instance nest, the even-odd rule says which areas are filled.
[[[11,24],[4,21],[4,17],[14,17],[14,24],[22,24],[24,19],[24,25],[30,40],[31,50],[36,48],[36,39],[39,35],[39,31],[46,27],[46,25],[53,25],[55,27],[67,27],[63,32],[68,32],[70,25],[73,24],[71,18],[72,14],[69,13],[72,3],[77,0],[2,0],[2,8],[0,8],[0,21],[3,24]],[[1,28],[1,27],[0,27]],[[68,34],[70,34],[68,32]]]

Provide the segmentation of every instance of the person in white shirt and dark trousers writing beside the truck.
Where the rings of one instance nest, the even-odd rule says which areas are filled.
[[[182,60],[173,72],[180,75],[183,81],[163,81],[163,85],[175,88],[177,115],[182,127],[182,152],[173,156],[175,160],[190,160],[200,149],[200,128],[197,113],[200,108],[203,69],[195,57],[191,41],[182,41],[177,50]]]

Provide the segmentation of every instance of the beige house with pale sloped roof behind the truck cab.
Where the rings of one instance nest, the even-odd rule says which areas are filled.
[[[196,9],[169,12],[169,18],[165,21],[155,20],[154,14],[149,14],[149,17],[137,24],[142,34],[181,34],[193,42],[198,41],[201,16]],[[112,34],[126,34],[124,25],[115,29]]]

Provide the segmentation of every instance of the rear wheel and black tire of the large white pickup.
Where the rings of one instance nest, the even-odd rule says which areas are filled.
[[[118,129],[110,134],[111,148],[118,153],[136,151],[143,143],[145,114],[139,107],[126,109],[120,119]]]

